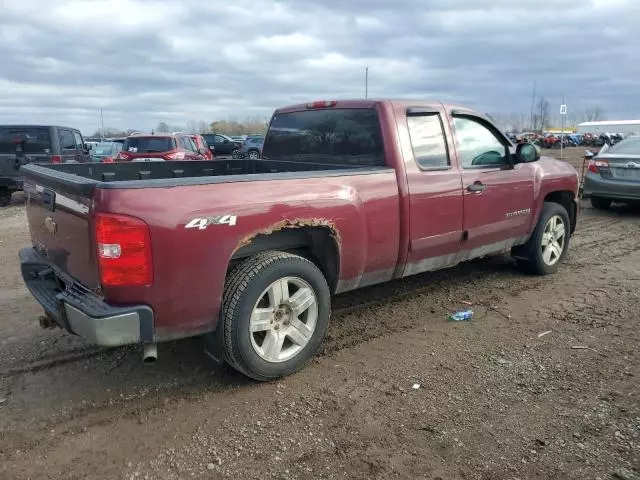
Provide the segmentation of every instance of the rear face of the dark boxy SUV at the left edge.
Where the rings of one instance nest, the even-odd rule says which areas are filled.
[[[20,178],[27,163],[47,163],[51,159],[49,127],[0,126],[0,186]]]

